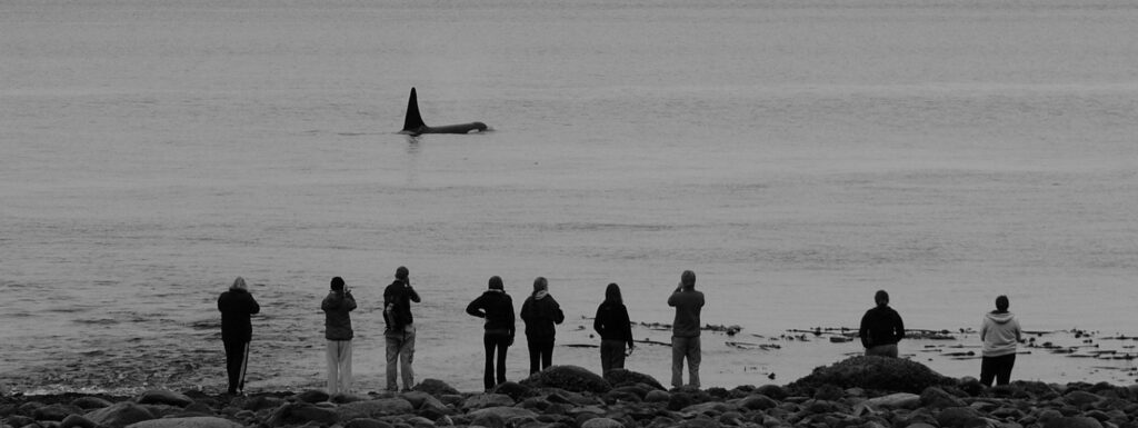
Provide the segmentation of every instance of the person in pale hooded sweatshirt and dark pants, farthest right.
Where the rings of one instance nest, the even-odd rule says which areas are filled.
[[[996,311],[984,314],[980,327],[980,341],[983,341],[983,359],[980,362],[980,382],[984,386],[1007,385],[1012,380],[1012,367],[1015,365],[1015,346],[1022,331],[1020,320],[1007,311],[1007,296],[996,297]]]

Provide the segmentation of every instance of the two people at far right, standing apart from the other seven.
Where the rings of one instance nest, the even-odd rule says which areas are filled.
[[[861,316],[858,336],[866,355],[897,357],[897,343],[905,338],[901,315],[889,307],[889,293],[879,290],[874,297],[876,306]],[[980,361],[980,382],[991,386],[1007,385],[1015,365],[1016,344],[1023,339],[1020,320],[1008,311],[1007,296],[996,297],[996,310],[984,314],[980,326],[980,341],[983,343]]]

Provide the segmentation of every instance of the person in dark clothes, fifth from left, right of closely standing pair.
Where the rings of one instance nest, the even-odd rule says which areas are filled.
[[[529,373],[545,370],[553,363],[553,339],[566,320],[561,305],[550,295],[545,277],[534,280],[534,294],[521,304],[521,320],[526,322],[526,344],[529,347]]]

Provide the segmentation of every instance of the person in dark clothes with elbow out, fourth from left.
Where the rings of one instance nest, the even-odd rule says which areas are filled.
[[[486,371],[483,384],[486,390],[492,390],[505,382],[505,352],[513,345],[514,335],[513,299],[505,294],[502,278],[490,277],[489,289],[467,305],[467,313],[486,319],[486,334],[483,336],[483,345],[486,347]]]

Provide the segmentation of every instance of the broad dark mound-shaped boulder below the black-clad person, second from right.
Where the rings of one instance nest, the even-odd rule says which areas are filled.
[[[930,386],[950,385],[955,379],[932,371],[924,364],[885,356],[853,356],[830,367],[819,367],[790,387],[865,388],[920,394]]]

